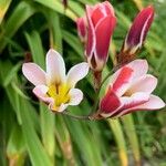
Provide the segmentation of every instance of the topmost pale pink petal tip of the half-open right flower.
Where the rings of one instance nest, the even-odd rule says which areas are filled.
[[[148,71],[148,63],[146,60],[134,60],[131,63],[128,63],[126,66],[133,69],[134,71],[133,80],[145,75]]]

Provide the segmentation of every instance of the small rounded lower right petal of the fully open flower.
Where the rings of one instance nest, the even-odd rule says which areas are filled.
[[[71,89],[69,94],[71,96],[69,105],[79,105],[83,100],[83,93],[79,89]]]

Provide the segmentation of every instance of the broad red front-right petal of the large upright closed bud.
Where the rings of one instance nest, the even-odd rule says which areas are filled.
[[[95,28],[96,55],[98,59],[102,59],[104,61],[107,60],[110,41],[111,41],[112,33],[114,31],[115,24],[116,24],[115,17],[107,15],[104,19],[102,19]]]

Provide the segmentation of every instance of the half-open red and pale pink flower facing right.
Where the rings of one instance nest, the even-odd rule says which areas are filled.
[[[100,115],[118,117],[135,111],[164,107],[165,103],[151,94],[157,85],[157,79],[146,74],[147,70],[146,60],[135,60],[116,71],[100,102]]]

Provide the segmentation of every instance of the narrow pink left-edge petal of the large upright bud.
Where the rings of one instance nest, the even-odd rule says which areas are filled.
[[[94,48],[95,48],[95,32],[94,27],[91,20],[91,7],[86,6],[86,17],[87,17],[87,42],[86,42],[86,55],[92,56]]]

